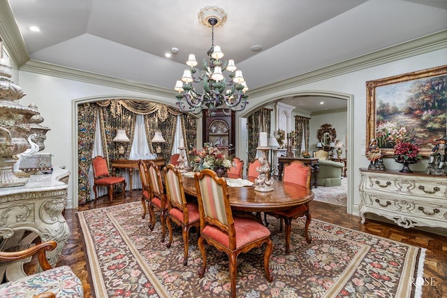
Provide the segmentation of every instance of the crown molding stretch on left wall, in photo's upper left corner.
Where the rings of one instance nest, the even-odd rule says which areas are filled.
[[[0,36],[10,58],[20,68],[30,58],[8,0],[0,0],[0,20]]]

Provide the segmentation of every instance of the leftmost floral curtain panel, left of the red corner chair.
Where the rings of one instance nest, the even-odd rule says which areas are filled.
[[[95,141],[96,104],[78,106],[78,201],[85,204],[90,199],[89,168]]]

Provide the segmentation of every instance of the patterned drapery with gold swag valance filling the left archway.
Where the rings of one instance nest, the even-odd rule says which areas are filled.
[[[151,152],[154,152],[152,138],[154,132],[160,130],[166,139],[161,144],[163,151],[161,157],[169,160],[173,149],[177,115],[182,119],[182,134],[185,146],[196,146],[196,118],[184,114],[175,108],[156,104],[151,101],[135,101],[128,99],[110,99],[78,105],[78,181],[79,204],[90,200],[89,168],[94,148],[96,115],[99,113],[101,142],[105,158],[118,158],[117,146],[112,141],[117,129],[124,129],[130,141],[125,145],[124,157],[129,158],[133,143],[136,115],[144,115],[147,143]]]

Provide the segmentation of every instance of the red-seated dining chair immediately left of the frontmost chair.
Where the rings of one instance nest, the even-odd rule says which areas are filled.
[[[184,243],[183,264],[188,264],[189,249],[189,229],[200,228],[200,215],[198,212],[197,201],[186,201],[183,190],[182,173],[180,173],[173,164],[168,164],[163,168],[163,174],[166,185],[166,197],[168,198],[168,212],[166,213],[166,225],[169,231],[169,242],[166,244],[170,248],[173,243],[173,227],[171,221],[182,227],[182,236]]]

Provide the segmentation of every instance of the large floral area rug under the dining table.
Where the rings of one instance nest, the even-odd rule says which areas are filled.
[[[142,219],[140,202],[78,213],[85,241],[92,295],[105,297],[228,297],[228,257],[207,246],[207,270],[198,277],[202,258],[191,233],[188,265],[182,264],[182,230],[175,227],[171,248],[161,243]],[[290,255],[284,232],[268,218],[274,243],[272,283],[263,273],[263,248],[237,257],[237,297],[418,297],[411,281],[423,274],[425,250],[312,220],[294,220]],[[168,240],[168,237],[166,238]]]

